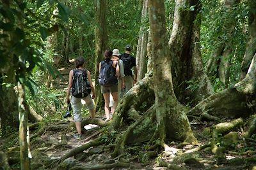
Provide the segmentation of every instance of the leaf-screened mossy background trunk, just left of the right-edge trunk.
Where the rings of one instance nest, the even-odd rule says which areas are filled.
[[[226,0],[223,3],[223,10],[228,12],[232,10],[234,6],[236,6],[239,2],[237,0]],[[216,78],[220,78],[220,81],[227,87],[229,83],[230,76],[230,62],[231,62],[231,54],[233,51],[233,46],[231,39],[233,38],[233,32],[235,29],[236,20],[230,19],[228,22],[222,27],[222,31],[226,34],[227,40],[222,41],[220,45],[215,48],[215,51],[212,52],[211,58],[207,62],[206,71],[209,76],[214,76],[216,74]],[[215,69],[217,67],[217,69]]]

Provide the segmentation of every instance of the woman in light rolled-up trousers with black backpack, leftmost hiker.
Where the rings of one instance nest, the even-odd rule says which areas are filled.
[[[92,85],[92,79],[90,71],[83,69],[84,67],[84,57],[78,57],[76,59],[76,69],[69,71],[69,80],[68,80],[68,90],[67,90],[67,103],[71,103],[74,113],[74,120],[76,124],[77,135],[76,139],[81,139],[82,136],[82,127],[81,122],[83,120],[81,115],[83,99],[90,111],[90,115],[94,118],[94,103],[92,99],[95,98],[95,90]],[[71,91],[72,90],[72,91]],[[92,97],[90,92],[92,90]],[[71,91],[71,101],[69,98]]]

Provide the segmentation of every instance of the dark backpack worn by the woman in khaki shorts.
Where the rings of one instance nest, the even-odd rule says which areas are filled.
[[[101,69],[99,75],[99,84],[104,86],[111,86],[117,83],[116,69],[112,66],[113,60],[104,60],[101,62]]]

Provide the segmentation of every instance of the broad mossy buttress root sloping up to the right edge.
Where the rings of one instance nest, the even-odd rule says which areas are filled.
[[[234,87],[222,90],[219,93],[209,96],[204,101],[198,103],[188,115],[202,115],[210,113],[223,117],[246,117],[252,113],[255,104],[249,107],[255,95],[256,84],[256,53],[252,59],[246,77],[236,83]]]

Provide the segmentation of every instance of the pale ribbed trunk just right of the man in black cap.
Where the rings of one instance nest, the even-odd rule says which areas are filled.
[[[147,41],[148,41],[148,0],[143,0],[143,8],[141,11],[141,27],[138,39],[138,48],[136,55],[137,64],[137,82],[144,78],[147,73]]]

